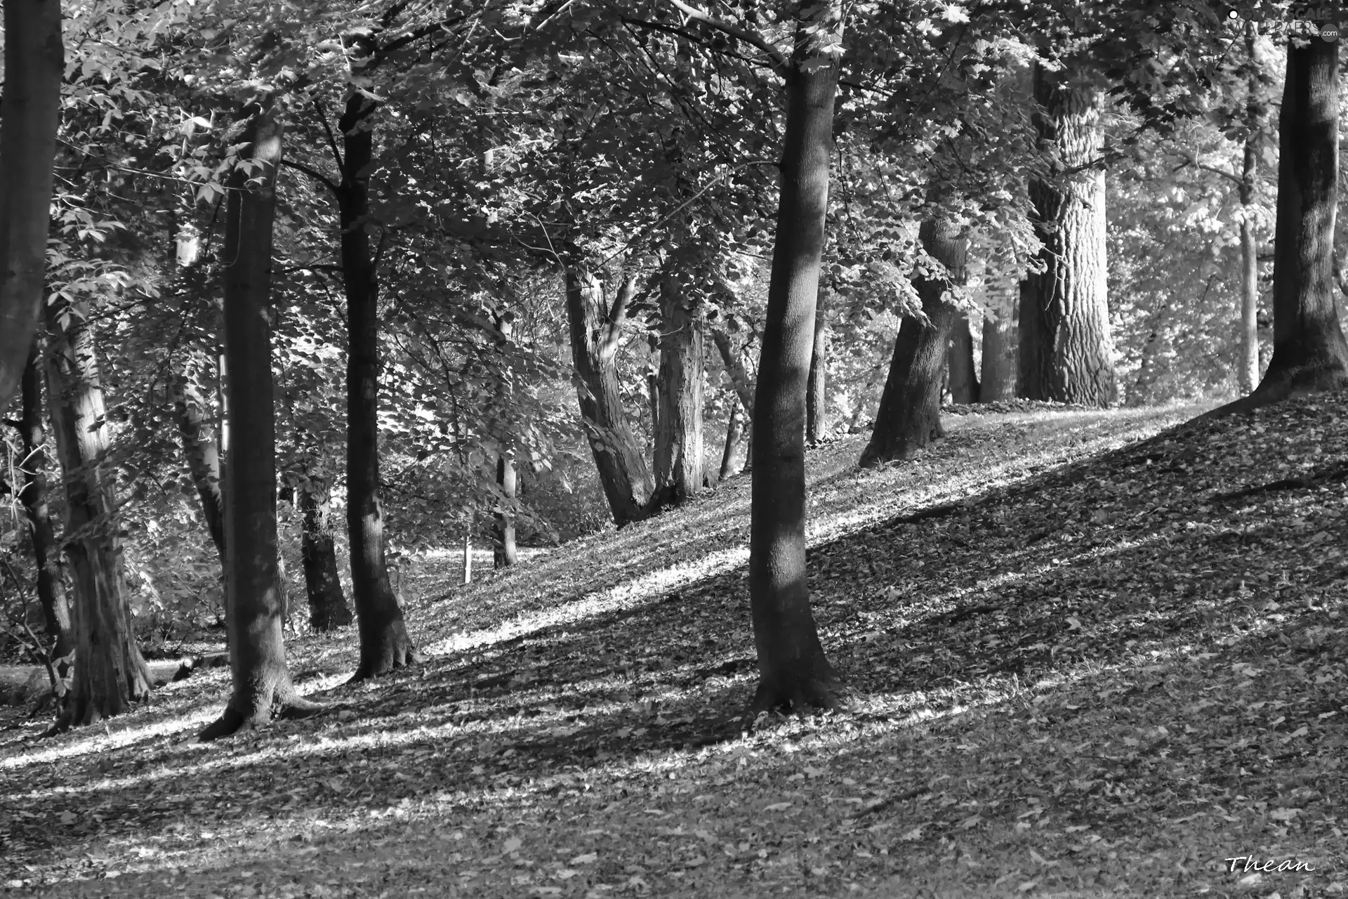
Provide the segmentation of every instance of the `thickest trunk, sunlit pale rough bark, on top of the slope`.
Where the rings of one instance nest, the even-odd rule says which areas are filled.
[[[1035,66],[1039,142],[1057,156],[1060,178],[1030,182],[1043,272],[1020,294],[1020,394],[1029,399],[1111,406],[1117,399],[1105,297],[1103,94],[1068,86]]]

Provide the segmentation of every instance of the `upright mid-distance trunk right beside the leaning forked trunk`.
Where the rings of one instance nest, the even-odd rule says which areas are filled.
[[[704,315],[677,274],[661,279],[659,419],[655,489],[678,504],[702,489]]]

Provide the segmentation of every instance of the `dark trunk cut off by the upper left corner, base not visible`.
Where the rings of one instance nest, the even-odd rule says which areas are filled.
[[[51,175],[61,119],[59,0],[4,4],[0,101],[0,411],[27,364],[47,271]]]

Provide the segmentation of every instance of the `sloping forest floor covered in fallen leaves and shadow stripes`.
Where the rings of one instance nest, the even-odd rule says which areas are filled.
[[[50,740],[0,709],[0,890],[1344,894],[1348,396],[1198,411],[952,416],[872,472],[864,434],[813,452],[847,712],[739,717],[747,477],[469,586],[426,561],[422,666],[342,686],[353,629],[291,642],[317,718],[200,744],[222,671]]]

